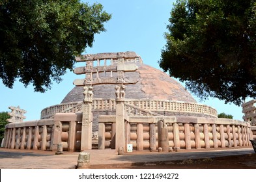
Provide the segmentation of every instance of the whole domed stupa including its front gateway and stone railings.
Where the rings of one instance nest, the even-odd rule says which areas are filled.
[[[83,55],[76,85],[40,120],[6,126],[5,148],[57,150],[238,148],[256,138],[250,122],[218,118],[134,52]],[[253,129],[253,130],[252,130]]]

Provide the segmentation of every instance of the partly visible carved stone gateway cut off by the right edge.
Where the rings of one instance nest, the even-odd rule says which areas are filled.
[[[251,125],[256,125],[256,100],[253,99],[242,104],[242,112],[244,113],[243,119],[246,122],[251,122]]]

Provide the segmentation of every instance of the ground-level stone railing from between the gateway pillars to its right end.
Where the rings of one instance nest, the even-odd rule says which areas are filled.
[[[126,144],[137,150],[158,149],[158,120],[167,124],[169,148],[233,148],[250,146],[253,133],[248,122],[220,118],[129,116]],[[115,116],[99,118],[99,149],[115,146]]]

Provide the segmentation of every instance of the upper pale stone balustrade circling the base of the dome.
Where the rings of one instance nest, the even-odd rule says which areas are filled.
[[[204,114],[217,118],[218,114],[216,109],[207,105],[198,103],[185,103],[180,101],[166,101],[166,100],[153,100],[153,99],[126,99],[126,109],[130,114],[132,110],[134,113],[149,113],[150,115],[162,114],[167,112],[180,112],[180,113],[193,113]],[[82,102],[63,103],[53,105],[43,109],[41,112],[41,119],[51,118],[56,113],[75,113],[81,111]],[[129,111],[130,108],[130,111]],[[115,99],[93,99],[92,110],[115,110]],[[141,110],[141,111],[139,111]],[[147,114],[142,114],[147,115]]]

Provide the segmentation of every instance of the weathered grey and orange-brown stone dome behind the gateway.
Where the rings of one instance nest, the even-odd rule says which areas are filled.
[[[165,99],[196,103],[192,95],[166,73],[143,63],[136,72],[126,72],[125,77],[137,79],[126,85],[126,99]],[[94,85],[93,98],[115,99],[115,85]],[[61,103],[83,101],[83,87],[75,86]]]

